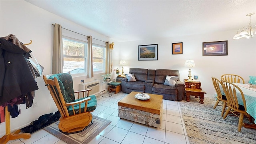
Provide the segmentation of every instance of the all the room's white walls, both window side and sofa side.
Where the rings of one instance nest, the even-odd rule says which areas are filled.
[[[182,36],[174,38],[156,38],[151,40],[140,40],[132,42],[117,42],[93,32],[80,25],[74,24],[64,18],[42,10],[25,1],[0,1],[0,37],[15,34],[23,43],[33,41],[28,48],[38,62],[44,66],[44,75],[52,72],[52,37],[53,23],[62,24],[62,27],[79,32],[84,35],[91,35],[104,41],[114,42],[112,51],[113,69],[120,68],[120,60],[126,60],[124,72],[128,73],[129,68],[148,69],[174,69],[180,71],[180,79],[187,78],[188,68],[183,67],[185,60],[192,59],[196,68],[192,68],[192,75],[198,75],[202,82],[202,88],[208,96],[213,96],[211,76],[220,78],[224,73],[238,74],[248,82],[249,75],[256,75],[256,38],[232,40],[236,30],[232,32],[216,32],[213,34],[202,34],[197,36]],[[202,56],[202,42],[228,40],[228,56]],[[172,55],[172,43],[183,42],[183,54]],[[158,44],[158,60],[138,61],[138,45]],[[112,72],[114,75],[115,73]],[[101,79],[101,74],[94,78]],[[78,90],[78,83],[81,79],[92,81],[94,78],[74,78],[74,90]],[[38,107],[25,108],[21,105],[21,114],[17,118],[10,118],[11,131],[27,126],[33,120],[38,119],[42,114],[56,112],[48,89],[44,86],[42,77],[36,78],[39,90],[36,90],[34,101],[38,101]],[[5,123],[0,125],[1,137],[5,134]]]

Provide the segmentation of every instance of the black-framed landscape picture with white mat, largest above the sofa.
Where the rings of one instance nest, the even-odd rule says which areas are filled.
[[[138,60],[157,60],[157,44],[138,46]]]

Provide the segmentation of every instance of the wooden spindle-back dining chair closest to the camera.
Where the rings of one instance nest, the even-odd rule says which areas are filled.
[[[226,98],[228,100],[228,103],[227,103],[228,110],[226,111],[223,119],[225,119],[228,116],[229,112],[232,112],[234,115],[236,115],[235,112],[240,113],[239,116],[236,115],[236,116],[239,117],[238,132],[240,132],[241,128],[243,126],[244,115],[246,115],[248,117],[249,121],[252,123],[252,117],[250,116],[250,114],[248,114],[246,112],[246,101],[245,101],[245,98],[244,98],[244,93],[242,92],[242,90],[238,86],[236,86],[232,82],[228,82],[226,80],[221,80],[221,85],[222,85],[222,88],[223,88],[224,93],[226,95]],[[242,101],[243,101],[243,106],[238,104],[238,98],[237,98],[237,93],[236,93],[237,91],[240,92],[240,94],[241,94],[241,98],[242,98]]]

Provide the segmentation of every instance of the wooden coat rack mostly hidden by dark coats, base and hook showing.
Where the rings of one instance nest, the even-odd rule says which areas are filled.
[[[30,43],[24,44],[24,45],[29,45],[32,44],[32,40],[30,40]],[[11,133],[10,130],[10,112],[8,111],[8,106],[5,107],[5,135],[0,138],[0,144],[6,144],[9,140],[16,140],[19,138],[24,138],[28,139],[31,137],[30,133],[22,133],[19,134],[21,130],[16,130],[15,132]]]

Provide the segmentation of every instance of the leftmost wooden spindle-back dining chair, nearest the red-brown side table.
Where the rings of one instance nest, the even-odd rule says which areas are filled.
[[[217,94],[217,97],[216,97],[217,101],[216,101],[213,108],[215,109],[218,106],[220,101],[223,102],[222,112],[221,112],[221,116],[223,116],[228,100],[227,100],[226,96],[221,94],[221,91],[220,91],[221,82],[220,82],[220,80],[218,80],[215,77],[212,77],[212,84],[213,84],[213,86],[215,88],[215,91],[216,91],[216,94]]]

